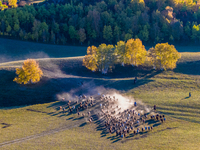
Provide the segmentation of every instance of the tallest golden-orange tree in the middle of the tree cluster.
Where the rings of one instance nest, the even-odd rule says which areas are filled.
[[[131,65],[142,65],[146,60],[147,51],[140,39],[129,39],[125,46],[127,63]]]

